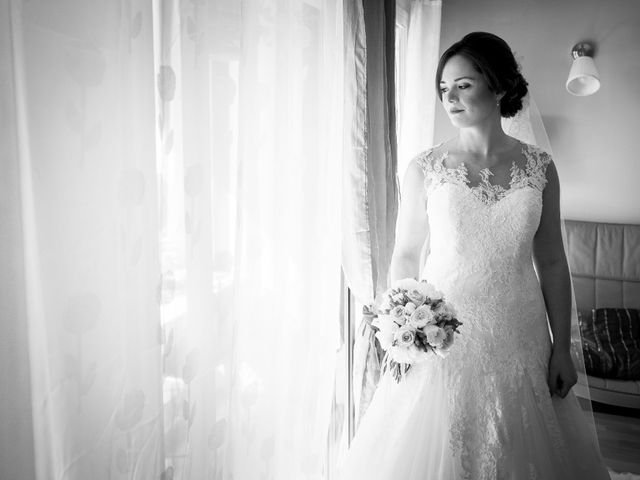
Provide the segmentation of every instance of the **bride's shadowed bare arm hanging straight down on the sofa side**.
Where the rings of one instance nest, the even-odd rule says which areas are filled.
[[[547,185],[542,195],[542,215],[534,238],[533,255],[553,334],[549,391],[564,398],[578,377],[570,353],[571,281],[560,222],[560,182],[551,162],[547,167]]]

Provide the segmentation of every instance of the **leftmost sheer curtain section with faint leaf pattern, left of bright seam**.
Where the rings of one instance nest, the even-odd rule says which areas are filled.
[[[126,5],[10,4],[38,478],[161,462],[151,6]]]

